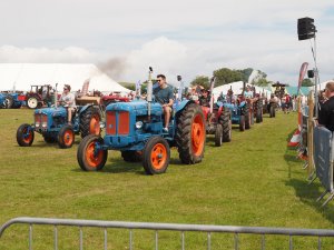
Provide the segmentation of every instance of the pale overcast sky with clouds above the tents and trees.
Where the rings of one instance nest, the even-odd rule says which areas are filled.
[[[334,78],[333,0],[10,0],[0,1],[0,62],[96,63],[117,81],[174,81],[219,68],[254,68],[296,84],[314,67],[297,19],[317,28],[321,81]]]

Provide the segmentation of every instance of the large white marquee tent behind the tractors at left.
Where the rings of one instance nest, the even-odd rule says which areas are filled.
[[[72,91],[77,91],[87,80],[89,80],[89,91],[130,91],[90,63],[0,63],[0,91],[27,91],[30,90],[31,84],[55,87],[56,83],[59,90],[63,84],[70,84]]]

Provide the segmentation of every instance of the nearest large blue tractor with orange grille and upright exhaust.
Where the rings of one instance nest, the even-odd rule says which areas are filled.
[[[125,161],[141,161],[147,174],[164,173],[169,164],[170,147],[177,147],[185,164],[200,162],[205,149],[205,119],[194,101],[180,101],[174,108],[168,132],[164,131],[163,107],[151,98],[151,68],[147,101],[111,103],[106,107],[106,136],[90,134],[78,147],[82,170],[105,167],[108,150],[121,151]]]

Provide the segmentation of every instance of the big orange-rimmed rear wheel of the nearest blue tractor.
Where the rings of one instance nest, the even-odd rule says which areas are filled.
[[[179,159],[185,164],[200,162],[206,139],[205,119],[202,108],[188,104],[177,119],[176,144]]]

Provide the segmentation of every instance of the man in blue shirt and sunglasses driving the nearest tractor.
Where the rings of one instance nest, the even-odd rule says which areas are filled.
[[[168,124],[173,109],[173,90],[166,83],[166,77],[164,74],[157,76],[158,87],[154,90],[156,101],[163,106],[165,114],[165,128],[164,131],[168,132]]]

